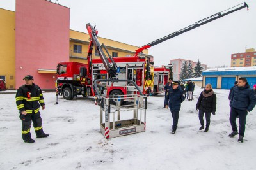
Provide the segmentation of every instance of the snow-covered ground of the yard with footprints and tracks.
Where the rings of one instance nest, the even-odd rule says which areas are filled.
[[[66,101],[45,92],[40,110],[48,138],[24,143],[15,94],[0,94],[0,169],[255,169],[256,109],[248,113],[244,143],[229,138],[229,90],[214,89],[216,115],[209,132],[199,131],[196,101],[184,101],[176,134],[164,94],[148,97],[145,132],[105,139],[99,131],[99,106],[92,99]],[[238,120],[237,120],[238,124]]]

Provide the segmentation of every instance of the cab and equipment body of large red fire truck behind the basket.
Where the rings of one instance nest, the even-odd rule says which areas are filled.
[[[145,57],[120,57],[114,59],[116,62],[116,78],[127,79],[136,82],[138,87],[144,94],[151,91],[153,87],[153,70],[154,65],[150,64],[150,75],[146,79],[145,72],[147,72],[147,58]],[[152,66],[151,66],[152,64]],[[108,72],[106,71],[101,59],[92,60],[92,78],[88,78],[86,67],[88,64],[78,62],[61,62],[57,66],[58,73],[58,93],[64,99],[70,100],[74,96],[83,95],[84,97],[94,96],[92,82],[97,79],[108,79]],[[126,95],[133,94],[136,91],[134,86],[125,82],[116,82],[113,85],[107,83],[100,83],[100,92],[107,90],[107,95]]]

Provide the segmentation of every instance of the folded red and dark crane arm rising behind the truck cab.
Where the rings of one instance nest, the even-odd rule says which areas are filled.
[[[102,47],[100,46],[99,40],[97,38],[98,31],[96,31],[95,27],[93,28],[90,23],[86,24],[86,28],[87,28],[88,34],[90,36],[90,44],[89,44],[89,47],[88,47],[88,56],[92,56],[92,50],[93,50],[93,45],[94,45],[95,48],[99,52],[100,59],[102,60],[103,65],[104,65],[106,71],[109,74],[109,78],[111,78],[111,79],[115,78],[116,71],[117,71],[116,63],[113,60],[113,58],[111,57],[111,55],[109,55],[108,50],[106,49],[104,44],[102,44],[102,46],[104,47],[104,49],[108,53],[108,56],[109,56],[109,58],[110,58],[112,63],[110,63],[108,61],[108,57],[106,57]]]

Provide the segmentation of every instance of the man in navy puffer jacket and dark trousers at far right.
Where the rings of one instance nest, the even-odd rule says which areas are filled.
[[[234,87],[230,99],[230,124],[232,126],[232,133],[230,137],[238,134],[236,118],[239,117],[239,142],[243,142],[246,116],[249,111],[252,111],[256,104],[256,96],[253,89],[248,85],[246,78],[239,78],[237,87]]]

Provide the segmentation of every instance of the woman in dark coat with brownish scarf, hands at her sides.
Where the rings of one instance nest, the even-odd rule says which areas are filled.
[[[204,113],[205,113],[205,118],[206,118],[206,127],[205,127],[205,132],[208,132],[209,126],[210,126],[210,118],[211,118],[211,113],[212,115],[215,115],[216,111],[216,94],[214,94],[212,90],[212,85],[207,84],[205,86],[204,91],[201,92],[197,104],[196,104],[196,110],[199,109],[199,120],[201,127],[199,130],[204,129]]]

